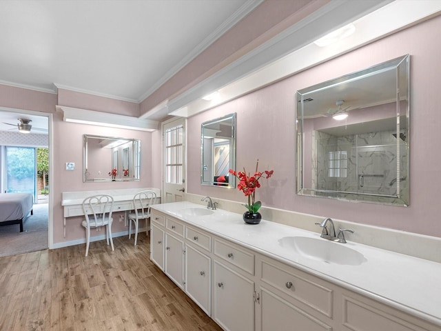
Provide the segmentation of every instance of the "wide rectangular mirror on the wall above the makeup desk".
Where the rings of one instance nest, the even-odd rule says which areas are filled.
[[[83,161],[84,183],[139,181],[141,141],[84,134]]]

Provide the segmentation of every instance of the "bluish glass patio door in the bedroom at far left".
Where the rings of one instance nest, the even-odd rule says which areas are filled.
[[[6,193],[26,192],[37,202],[36,148],[6,146]]]

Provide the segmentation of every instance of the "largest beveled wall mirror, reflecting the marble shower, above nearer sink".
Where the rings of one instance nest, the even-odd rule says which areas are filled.
[[[409,205],[409,55],[296,101],[298,194]]]

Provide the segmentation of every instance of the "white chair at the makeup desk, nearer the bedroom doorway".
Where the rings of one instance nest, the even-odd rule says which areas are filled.
[[[85,220],[81,223],[81,225],[83,225],[83,227],[85,228],[86,234],[86,257],[88,256],[89,252],[91,228],[96,228],[96,230],[100,230],[102,226],[105,226],[105,237],[107,239],[107,245],[109,245],[110,239],[112,250],[114,250],[112,240],[112,206],[113,197],[107,194],[94,195],[83,200],[83,212]]]

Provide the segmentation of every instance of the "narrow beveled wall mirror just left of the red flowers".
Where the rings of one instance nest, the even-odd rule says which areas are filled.
[[[201,184],[234,188],[228,170],[236,167],[236,114],[206,121],[201,131]]]

